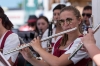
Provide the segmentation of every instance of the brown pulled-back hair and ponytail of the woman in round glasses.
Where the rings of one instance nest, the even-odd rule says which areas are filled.
[[[60,14],[64,11],[72,11],[73,14],[78,18],[81,17],[81,14],[79,12],[78,9],[76,9],[75,7],[73,6],[67,6],[67,7],[64,7],[61,11],[60,11]],[[79,25],[79,30],[80,30],[81,26]],[[68,41],[68,34],[64,34],[63,38],[62,38],[62,41],[60,43],[60,46],[65,46],[66,45],[66,41]]]

